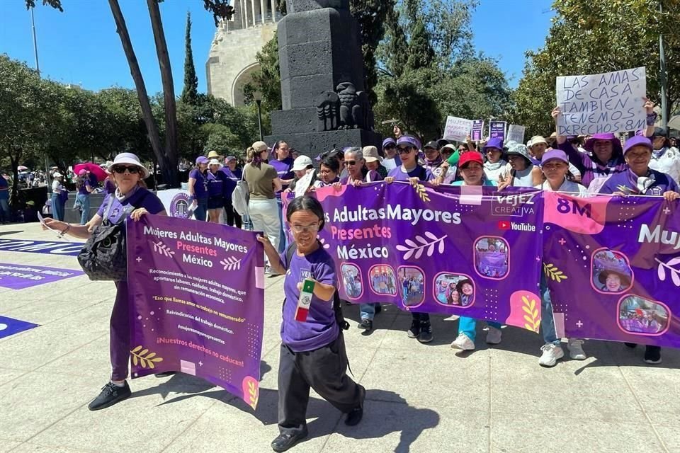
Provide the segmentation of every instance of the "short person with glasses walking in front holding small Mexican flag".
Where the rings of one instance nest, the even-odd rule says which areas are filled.
[[[271,442],[275,452],[285,452],[307,437],[310,389],[346,413],[345,424],[350,426],[363,417],[366,393],[347,375],[342,334],[346,325],[338,322],[341,304],[336,267],[317,240],[324,227],[324,210],[315,198],[305,195],[291,201],[285,215],[295,239],[285,253],[279,255],[268,237],[258,236],[273,270],[285,274],[278,367],[280,434]],[[307,291],[312,293],[311,302],[299,303]]]

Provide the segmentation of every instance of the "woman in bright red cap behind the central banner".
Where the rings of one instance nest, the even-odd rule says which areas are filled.
[[[493,139],[492,139],[493,140]],[[489,140],[490,142],[490,140]],[[460,176],[463,178],[462,181],[455,181],[452,185],[495,185],[493,181],[485,178],[484,162],[482,161],[482,155],[477,151],[467,151],[460,154],[460,161],[458,161],[458,171]],[[463,292],[463,286],[467,285],[465,288],[465,294]],[[465,279],[458,282],[458,291],[462,294],[461,299],[463,305],[465,305],[465,296],[467,296],[467,302],[471,300],[472,282]],[[497,345],[501,343],[502,331],[501,324],[494,323],[492,321],[487,321],[489,325],[489,332],[487,333],[487,343],[489,345]],[[471,351],[475,349],[475,338],[477,336],[477,320],[467,316],[460,316],[458,320],[458,337],[451,343],[451,348]]]

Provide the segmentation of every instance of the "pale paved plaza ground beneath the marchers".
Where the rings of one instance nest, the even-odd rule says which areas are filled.
[[[16,224],[1,226],[0,239],[55,236]],[[0,250],[0,263],[79,269],[73,256],[41,253]],[[114,292],[84,276],[0,288],[0,315],[40,324],[0,339],[0,452],[270,452],[283,279],[267,281],[256,411],[183,374],[135,379],[131,398],[89,411],[110,372]],[[407,338],[410,315],[393,306],[370,335],[356,328],[355,306],[345,315],[351,369],[368,390],[363,421],[348,428],[313,394],[310,438],[292,452],[680,452],[676,350],[650,366],[644,348],[593,340],[584,345],[588,360],[544,369],[540,337],[518,328],[487,347],[480,323],[478,350],[456,355],[449,345],[458,322],[445,316],[433,316],[434,340],[422,345]]]

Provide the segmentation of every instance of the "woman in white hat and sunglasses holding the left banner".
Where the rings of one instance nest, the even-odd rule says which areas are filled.
[[[137,222],[144,214],[166,215],[163,203],[150,190],[147,190],[144,178],[149,171],[140,163],[140,159],[132,153],[115,156],[113,164],[108,167],[116,189],[113,194],[104,198],[102,205],[88,225],[67,224],[56,219],[45,219],[45,226],[62,231],[75,238],[88,239],[94,228],[103,221],[118,224],[125,217]],[[108,217],[107,217],[108,215]],[[115,282],[115,302],[111,311],[111,380],[103,386],[99,396],[89,403],[90,411],[108,408],[128,398],[132,391],[125,380],[128,377],[130,362],[130,316],[128,306],[128,282]]]

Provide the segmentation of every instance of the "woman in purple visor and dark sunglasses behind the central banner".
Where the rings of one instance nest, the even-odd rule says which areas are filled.
[[[418,150],[420,141],[411,135],[402,135],[397,139],[397,153],[402,164],[387,173],[385,183],[391,184],[396,181],[409,181],[416,184],[420,181],[434,180],[432,172],[418,165]],[[404,302],[406,302],[404,300]],[[427,313],[411,312],[411,328],[407,331],[409,338],[417,338],[420,343],[432,341],[432,326],[430,315]]]

